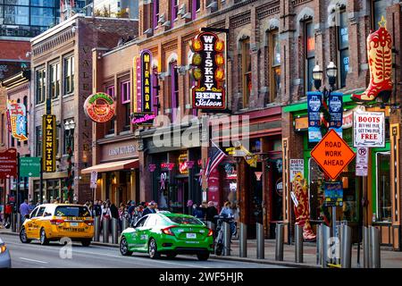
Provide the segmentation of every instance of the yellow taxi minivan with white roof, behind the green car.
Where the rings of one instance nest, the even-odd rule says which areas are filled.
[[[87,247],[94,236],[94,219],[87,206],[44,204],[25,217],[20,231],[22,243],[40,240],[40,244],[46,245],[52,240],[70,238]]]

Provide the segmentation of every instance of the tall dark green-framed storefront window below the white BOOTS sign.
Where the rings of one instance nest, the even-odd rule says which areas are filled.
[[[380,222],[391,222],[391,191],[389,178],[390,153],[377,153],[377,217]]]

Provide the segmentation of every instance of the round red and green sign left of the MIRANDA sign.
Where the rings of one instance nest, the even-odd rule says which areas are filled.
[[[113,98],[103,92],[93,94],[85,100],[84,112],[94,122],[110,121],[114,116]]]

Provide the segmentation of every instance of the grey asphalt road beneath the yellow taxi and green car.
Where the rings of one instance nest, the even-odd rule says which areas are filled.
[[[18,236],[11,235],[3,235],[2,240],[10,249],[13,268],[285,268],[221,259],[198,261],[196,256],[178,256],[173,259],[163,256],[152,260],[147,254],[134,253],[131,257],[122,257],[119,248],[94,245],[82,247],[79,243],[72,243],[69,248],[58,242],[41,246],[35,240],[22,244]]]

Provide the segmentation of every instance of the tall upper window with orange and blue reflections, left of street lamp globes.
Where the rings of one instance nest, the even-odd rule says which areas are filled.
[[[313,90],[315,65],[315,38],[313,21],[305,22],[305,91]]]

